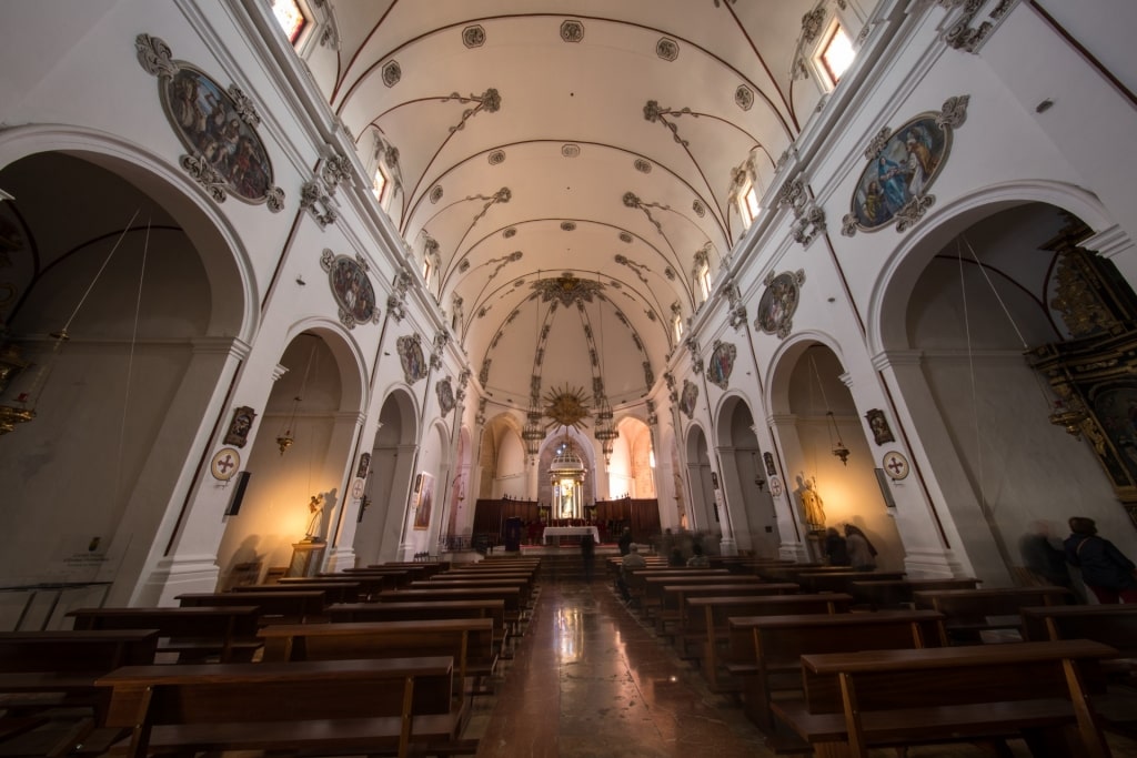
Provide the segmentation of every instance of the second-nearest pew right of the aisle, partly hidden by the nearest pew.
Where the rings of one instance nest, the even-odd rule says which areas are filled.
[[[772,694],[799,691],[803,655],[938,647],[943,619],[935,610],[732,616],[727,670],[741,682],[746,714],[771,734]]]

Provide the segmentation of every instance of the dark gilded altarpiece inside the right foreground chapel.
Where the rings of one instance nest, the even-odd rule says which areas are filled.
[[[1074,222],[1043,245],[1057,255],[1051,306],[1071,339],[1030,350],[1057,395],[1051,422],[1086,439],[1137,526],[1137,295],[1113,264],[1078,244]]]

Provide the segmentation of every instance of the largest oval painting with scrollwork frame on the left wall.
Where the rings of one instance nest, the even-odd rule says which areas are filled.
[[[235,84],[223,90],[205,72],[171,57],[169,45],[149,34],[134,40],[139,64],[158,77],[158,95],[174,133],[189,150],[179,159],[217,202],[232,194],[277,213],[284,191],[273,185],[273,165],[256,127],[252,101]]]

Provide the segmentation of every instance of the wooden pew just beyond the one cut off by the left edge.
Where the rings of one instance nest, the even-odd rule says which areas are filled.
[[[256,606],[77,608],[67,615],[78,631],[156,630],[158,652],[176,653],[179,663],[251,660],[260,649]]]

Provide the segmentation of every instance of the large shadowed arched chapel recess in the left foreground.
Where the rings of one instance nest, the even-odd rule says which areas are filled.
[[[0,202],[3,342],[27,364],[0,403],[26,407],[30,391],[35,406],[0,436],[0,482],[19,514],[0,570],[109,581],[106,601],[125,605],[200,481],[194,440],[236,368],[227,349],[249,328],[247,280],[211,210],[151,174],[147,156],[109,158],[70,136],[91,151],[0,172],[15,197]],[[50,336],[64,327],[66,342]]]

